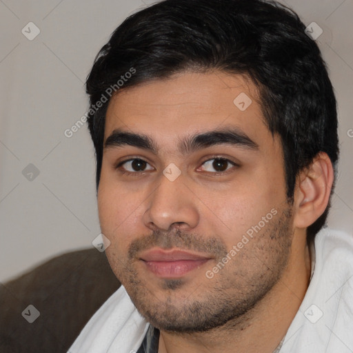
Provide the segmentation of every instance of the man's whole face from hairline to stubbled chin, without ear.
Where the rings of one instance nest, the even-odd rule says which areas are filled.
[[[110,101],[104,139],[106,254],[152,325],[210,330],[271,292],[293,222],[280,139],[250,81],[182,72],[127,88]]]

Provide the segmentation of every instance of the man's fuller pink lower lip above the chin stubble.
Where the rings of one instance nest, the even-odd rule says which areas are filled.
[[[180,261],[144,261],[152,273],[164,278],[181,277],[188,272],[199,268],[206,263],[208,259],[203,260],[180,260]]]

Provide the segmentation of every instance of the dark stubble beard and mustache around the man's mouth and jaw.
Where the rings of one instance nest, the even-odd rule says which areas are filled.
[[[215,263],[218,263],[228,253],[225,245],[216,238],[205,241],[202,237],[179,231],[173,236],[157,231],[132,242],[125,266],[115,263],[114,256],[108,256],[108,259],[139,313],[159,330],[194,333],[216,327],[234,328],[251,316],[256,304],[281,279],[292,244],[291,216],[288,206],[213,279],[203,276],[202,283],[197,285],[183,279],[163,280],[159,295],[134,268],[132,259],[140,250],[152,246],[208,250],[216,254],[218,260]]]

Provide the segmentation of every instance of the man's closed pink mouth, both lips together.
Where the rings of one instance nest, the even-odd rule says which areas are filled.
[[[210,261],[211,257],[203,254],[185,252],[181,250],[154,249],[143,252],[140,260],[145,267],[163,279],[175,279],[192,270],[201,268],[202,265]]]

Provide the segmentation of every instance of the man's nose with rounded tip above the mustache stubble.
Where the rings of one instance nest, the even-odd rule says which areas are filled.
[[[199,224],[196,196],[183,181],[182,174],[170,181],[163,174],[159,185],[148,199],[143,223],[151,230],[168,231],[170,228],[190,230]]]

